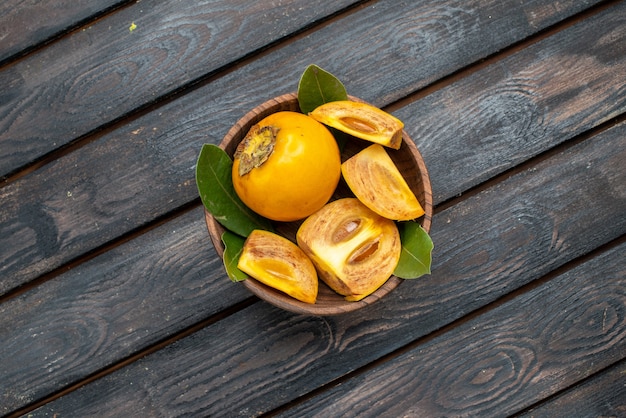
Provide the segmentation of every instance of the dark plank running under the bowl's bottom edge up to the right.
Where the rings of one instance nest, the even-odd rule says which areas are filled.
[[[433,275],[402,284],[367,309],[315,318],[256,303],[59,398],[35,416],[122,410],[233,416],[276,408],[623,235],[624,157],[626,124],[437,214]],[[623,294],[624,275],[600,273],[609,278],[595,282],[612,286],[612,298],[619,300],[615,288],[621,286]],[[551,292],[552,286],[550,281],[543,289]],[[514,306],[517,312],[523,303]],[[598,351],[613,344],[623,355],[623,318],[615,319],[614,304],[604,306],[610,329],[588,342]],[[614,355],[604,354],[603,361]]]

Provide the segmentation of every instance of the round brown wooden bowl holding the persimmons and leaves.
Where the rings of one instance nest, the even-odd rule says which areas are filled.
[[[350,100],[361,101],[356,97],[350,97]],[[282,110],[300,112],[298,98],[295,93],[276,97],[252,109],[228,131],[220,143],[220,147],[232,157],[237,145],[254,124],[258,123],[264,117]],[[366,141],[349,141],[342,151],[342,161],[369,145],[371,145],[371,143]],[[386,150],[424,208],[426,213],[419,219],[419,222],[427,232],[430,231],[433,215],[432,190],[430,178],[428,177],[422,156],[406,132],[403,132],[403,141],[399,150],[389,148],[386,148]],[[341,180],[333,199],[349,195],[351,195],[351,192],[343,180]],[[220,257],[223,257],[224,244],[222,243],[221,236],[224,232],[224,227],[222,227],[206,209],[205,218],[215,250]],[[295,242],[295,232],[300,223],[301,222],[275,223],[275,226],[281,235]],[[402,280],[403,279],[396,276],[391,276],[382,287],[358,302],[346,301],[343,296],[335,293],[320,280],[317,302],[315,304],[301,302],[253,278],[248,278],[241,283],[259,298],[279,308],[299,314],[322,316],[351,312],[368,306],[395,289]]]

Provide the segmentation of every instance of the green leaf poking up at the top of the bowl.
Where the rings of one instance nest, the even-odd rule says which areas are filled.
[[[324,103],[348,100],[346,88],[337,77],[317,65],[309,65],[298,84],[298,103],[305,115]]]

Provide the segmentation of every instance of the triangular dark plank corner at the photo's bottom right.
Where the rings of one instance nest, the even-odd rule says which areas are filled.
[[[516,416],[519,418],[626,416],[626,360]]]

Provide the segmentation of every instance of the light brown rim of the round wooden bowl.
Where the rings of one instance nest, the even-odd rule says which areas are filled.
[[[349,100],[364,102],[362,99],[355,96],[348,96]],[[276,96],[272,99],[269,99],[250,111],[246,112],[244,116],[242,116],[226,133],[222,141],[219,143],[219,147],[225,150],[228,153],[228,148],[232,148],[234,151],[234,147],[232,146],[233,138],[240,135],[242,130],[245,129],[247,132],[249,128],[263,119],[265,116],[281,111],[281,110],[293,110],[293,101],[298,100],[297,93],[286,93],[280,96]],[[415,157],[415,163],[420,172],[420,179],[423,188],[423,199],[424,202],[420,202],[424,209],[424,215],[419,218],[419,223],[422,225],[422,228],[426,232],[430,232],[430,227],[432,224],[432,215],[433,215],[433,203],[432,203],[432,189],[430,184],[430,177],[428,175],[428,170],[426,169],[426,164],[422,158],[421,153],[417,149],[417,146],[411,139],[411,137],[406,133],[406,131],[402,130],[402,142],[406,143],[409,148],[411,154]],[[229,154],[231,155],[231,154]],[[232,155],[231,155],[232,157]],[[211,215],[211,213],[204,208],[205,214],[205,222],[207,225],[207,229],[209,231],[209,237],[220,258],[224,256],[224,244],[221,240],[222,233],[225,231],[225,228],[217,222],[217,220]],[[305,303],[299,301],[291,296],[288,296],[276,289],[273,289],[269,286],[264,285],[263,283],[255,280],[252,277],[248,277],[246,280],[241,281],[251,293],[256,295],[262,300],[269,302],[270,304],[293,312],[297,314],[303,315],[312,315],[312,316],[328,316],[328,315],[338,315],[347,312],[353,312],[358,309],[362,309],[366,306],[372,305],[376,301],[380,300],[387,294],[389,294],[392,290],[400,285],[400,283],[404,281],[395,275],[391,275],[389,279],[376,291],[367,297],[355,301],[349,302],[345,299],[340,299],[342,303],[338,303],[336,305],[318,305]],[[325,283],[320,280],[320,286],[326,286]],[[341,295],[338,295],[341,297]]]

